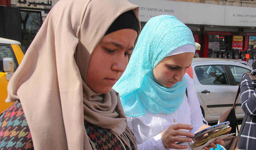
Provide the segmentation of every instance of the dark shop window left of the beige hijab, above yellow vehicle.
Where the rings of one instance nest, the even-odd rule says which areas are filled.
[[[31,44],[42,25],[41,11],[21,10],[22,44],[25,49]]]

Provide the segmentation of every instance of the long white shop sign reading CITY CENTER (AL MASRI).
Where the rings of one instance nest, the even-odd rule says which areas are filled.
[[[235,7],[168,0],[128,1],[139,6],[139,19],[142,22],[147,22],[154,16],[168,14],[175,16],[185,24],[256,26],[256,8],[252,7]]]

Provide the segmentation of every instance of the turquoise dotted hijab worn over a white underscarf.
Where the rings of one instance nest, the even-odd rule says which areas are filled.
[[[146,110],[170,114],[180,107],[187,86],[185,77],[165,88],[155,81],[153,68],[168,53],[186,44],[195,46],[193,34],[174,16],[156,16],[146,23],[126,70],[113,87],[120,93],[127,116],[140,116]]]

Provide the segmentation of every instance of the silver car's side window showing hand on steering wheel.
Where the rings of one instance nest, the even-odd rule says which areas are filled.
[[[195,67],[197,79],[204,85],[229,85],[227,74],[222,65]]]

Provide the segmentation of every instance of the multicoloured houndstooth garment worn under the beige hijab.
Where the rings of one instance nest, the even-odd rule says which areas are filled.
[[[86,133],[97,150],[124,149],[123,144],[110,129],[84,123]],[[133,144],[130,145],[134,149]],[[128,147],[125,146],[125,149],[128,150]],[[19,100],[0,115],[0,150],[34,150],[30,130]]]

